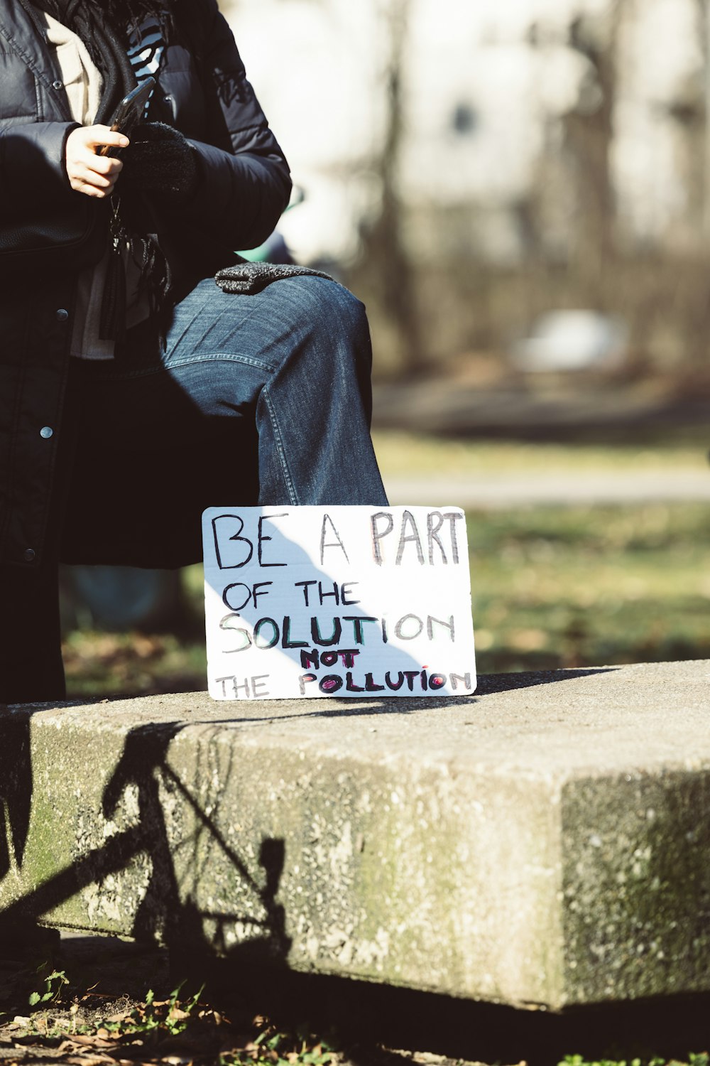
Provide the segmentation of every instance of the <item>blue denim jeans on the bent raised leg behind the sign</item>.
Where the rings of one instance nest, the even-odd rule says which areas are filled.
[[[104,433],[109,418],[117,443],[142,432],[160,443],[176,431],[184,398],[194,406],[191,432],[219,419],[237,433],[255,427],[258,453],[245,458],[258,459],[260,503],[381,504],[369,438],[370,367],[364,308],[336,282],[290,278],[242,296],[210,278],[175,308],[160,361],[132,369],[94,364],[84,368],[84,386],[95,386],[94,400],[104,398],[88,408],[94,429]],[[212,462],[221,462],[229,496],[234,456],[213,454]],[[240,502],[238,479],[233,490]]]

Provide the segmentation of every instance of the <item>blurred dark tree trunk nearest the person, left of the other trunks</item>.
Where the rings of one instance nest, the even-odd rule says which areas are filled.
[[[399,192],[399,156],[404,133],[402,78],[412,0],[385,0],[382,12],[389,43],[385,68],[386,120],[382,150],[373,161],[381,181],[378,216],[362,230],[367,288],[390,325],[396,365],[412,373],[427,359],[418,325],[415,275],[404,239],[404,206]]]

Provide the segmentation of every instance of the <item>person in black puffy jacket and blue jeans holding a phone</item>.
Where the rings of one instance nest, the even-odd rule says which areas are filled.
[[[9,704],[65,696],[60,562],[179,567],[207,506],[386,498],[362,304],[319,276],[215,284],[291,190],[216,0],[0,0],[0,34],[5,222],[88,197],[103,235],[90,261],[1,289]],[[141,124],[112,131],[149,76]]]

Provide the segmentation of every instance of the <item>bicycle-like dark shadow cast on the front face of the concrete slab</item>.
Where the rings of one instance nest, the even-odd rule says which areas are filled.
[[[22,770],[14,778],[18,784],[4,790],[5,796],[14,800],[14,829],[6,838],[15,843],[12,855],[7,850],[2,853],[3,877],[21,873],[28,840],[31,715],[31,711],[17,712],[15,741],[3,748],[5,760],[9,753],[22,754]],[[142,725],[129,731],[103,789],[101,809],[93,815],[96,836],[105,836],[105,840],[85,849],[70,865],[0,910],[0,956],[3,944],[14,944],[22,931],[42,925],[63,904],[88,891],[90,907],[99,912],[104,904],[114,910],[116,906],[129,910],[130,927],[121,928],[121,935],[162,943],[177,955],[240,959],[244,955],[269,966],[285,965],[291,939],[285,931],[284,908],[278,902],[285,843],[279,838],[262,837],[254,863],[227,839],[218,825],[218,793],[225,791],[233,773],[232,756],[215,778],[211,802],[200,802],[195,789],[170,763],[170,745],[184,728],[184,723],[172,722]],[[182,826],[176,831],[166,818],[170,808],[175,813],[178,804],[182,821],[191,821],[188,834],[182,831]],[[10,809],[6,798],[4,806]],[[217,854],[222,863],[227,859],[228,879],[232,888],[237,887],[233,894],[244,905],[243,910],[211,910],[197,903],[197,886]],[[136,884],[141,886],[138,898]],[[61,919],[57,924],[62,924]]]

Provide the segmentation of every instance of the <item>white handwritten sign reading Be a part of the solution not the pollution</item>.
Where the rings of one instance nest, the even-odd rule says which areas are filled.
[[[474,692],[459,507],[210,507],[202,534],[215,699]]]

